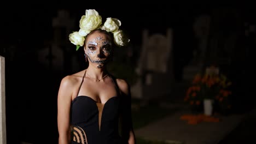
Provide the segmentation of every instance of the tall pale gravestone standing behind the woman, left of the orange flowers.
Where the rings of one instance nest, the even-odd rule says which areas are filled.
[[[172,29],[168,28],[166,35],[149,35],[144,30],[136,68],[139,78],[131,87],[132,97],[151,100],[170,94],[174,82],[172,58]]]

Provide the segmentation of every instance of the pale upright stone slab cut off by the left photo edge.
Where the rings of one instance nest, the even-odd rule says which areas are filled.
[[[5,122],[5,61],[0,56],[0,144],[6,144],[6,122]]]

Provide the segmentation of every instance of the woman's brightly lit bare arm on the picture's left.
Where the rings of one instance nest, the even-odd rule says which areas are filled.
[[[57,99],[57,126],[59,131],[59,144],[69,144],[71,130],[69,113],[72,101],[71,81],[64,77],[61,81]]]

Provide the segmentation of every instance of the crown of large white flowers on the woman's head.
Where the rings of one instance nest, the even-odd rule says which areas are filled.
[[[130,39],[125,37],[123,31],[119,29],[121,26],[120,20],[108,17],[106,22],[104,22],[104,25],[101,25],[101,16],[98,15],[98,12],[94,9],[86,10],[85,15],[81,17],[79,23],[79,32],[69,34],[69,40],[72,44],[77,46],[76,50],[78,50],[80,46],[84,45],[86,35],[95,29],[102,29],[107,32],[112,32],[114,43],[117,46],[125,46],[130,41]]]

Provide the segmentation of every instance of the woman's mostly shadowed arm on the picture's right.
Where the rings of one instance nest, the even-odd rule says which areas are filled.
[[[123,113],[121,117],[122,121],[122,136],[124,139],[127,139],[129,144],[135,144],[135,134],[132,126],[132,117],[131,117],[131,91],[130,86],[124,80],[117,80],[118,86],[122,93],[122,102],[123,102]]]

